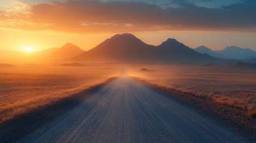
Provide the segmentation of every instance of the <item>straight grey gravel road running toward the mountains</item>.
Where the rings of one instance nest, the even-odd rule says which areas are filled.
[[[243,142],[127,76],[17,142]]]

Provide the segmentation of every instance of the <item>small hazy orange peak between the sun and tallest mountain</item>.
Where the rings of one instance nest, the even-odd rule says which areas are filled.
[[[85,52],[81,48],[79,48],[76,45],[73,45],[72,43],[66,43],[64,46],[61,48],[58,48],[55,50],[50,57],[52,59],[64,59],[64,58],[70,58],[74,57],[76,55],[82,54]]]

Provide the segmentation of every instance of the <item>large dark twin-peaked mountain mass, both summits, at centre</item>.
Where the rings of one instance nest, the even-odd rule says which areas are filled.
[[[72,61],[114,61],[114,62],[160,62],[160,63],[193,63],[221,61],[207,54],[200,54],[175,39],[168,39],[161,45],[153,46],[144,43],[134,35],[125,33],[115,35],[76,57]]]

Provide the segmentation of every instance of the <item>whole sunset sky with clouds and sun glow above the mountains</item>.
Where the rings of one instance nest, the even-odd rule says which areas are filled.
[[[159,45],[240,46],[256,51],[254,0],[1,0],[0,49],[33,51],[72,42],[88,50],[117,33]]]

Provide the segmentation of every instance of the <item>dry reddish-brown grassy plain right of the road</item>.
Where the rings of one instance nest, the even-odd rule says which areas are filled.
[[[147,70],[140,70],[146,68]],[[130,66],[131,76],[151,83],[207,97],[256,116],[256,70],[209,69],[204,66]]]

